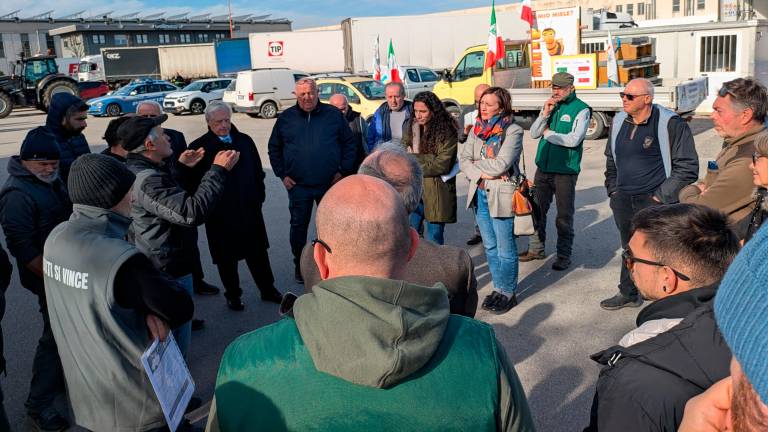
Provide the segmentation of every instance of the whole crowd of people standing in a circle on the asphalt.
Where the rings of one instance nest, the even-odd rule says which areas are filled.
[[[653,90],[644,79],[626,85],[605,148],[623,265],[619,293],[600,306],[649,304],[637,328],[592,356],[600,375],[585,431],[767,430],[768,93],[751,78],[723,85],[712,115],[723,148],[698,180],[691,130]],[[573,265],[591,116],[573,76],[553,76],[531,126],[535,233],[525,251],[512,199],[527,176],[525,132],[507,91],[478,86],[464,127],[431,92],[406,100],[400,83],[367,123],[343,95],[320,102],[312,79],[295,94],[268,157],[289,198],[298,298],[275,287],[265,172],[228,105],[210,103],[208,131],[187,145],[163,127],[159,104],[142,102],[91,154],[87,105],[53,97],[0,190],[0,226],[44,324],[25,403],[39,429],[168,430],[140,356],[173,334],[187,358],[204,326],[192,294],[219,293],[200,263],[204,225],[228,308],[245,310],[244,260],[262,301],[284,314],[227,348],[207,430],[534,430],[515,365],[474,316],[478,303],[494,314],[518,304],[519,262],[547,257],[553,199],[552,269]],[[482,302],[467,251],[443,244],[459,182],[476,221],[468,243],[482,242],[491,276]],[[307,242],[313,211],[317,238]],[[0,248],[3,292],[12,271]],[[0,295],[0,317],[4,306]],[[61,396],[71,419],[54,404]]]

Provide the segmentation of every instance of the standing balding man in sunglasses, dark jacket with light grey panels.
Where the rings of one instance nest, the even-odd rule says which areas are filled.
[[[605,188],[621,247],[626,249],[635,213],[656,204],[676,203],[680,190],[698,178],[699,156],[688,124],[653,103],[650,81],[634,79],[620,95],[624,112],[613,118],[605,147]],[[616,310],[642,304],[622,263],[619,293],[600,302],[600,307]]]

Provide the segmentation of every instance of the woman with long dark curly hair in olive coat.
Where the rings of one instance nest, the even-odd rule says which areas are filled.
[[[443,103],[432,92],[413,98],[413,115],[403,128],[403,145],[413,153],[424,172],[424,193],[411,213],[411,226],[426,238],[443,244],[446,223],[456,223],[456,176],[443,181],[456,164],[458,128]]]

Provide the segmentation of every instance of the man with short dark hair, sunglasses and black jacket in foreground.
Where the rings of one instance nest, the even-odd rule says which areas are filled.
[[[713,312],[739,251],[726,216],[671,204],[641,210],[624,251],[640,293],[653,301],[637,329],[592,356],[603,365],[587,431],[677,430],[685,403],[729,374],[730,351]]]

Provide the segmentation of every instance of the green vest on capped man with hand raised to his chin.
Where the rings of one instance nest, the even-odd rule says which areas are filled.
[[[549,115],[547,126],[552,132],[559,134],[570,133],[576,116],[589,106],[576,97],[572,92]],[[536,151],[536,165],[542,172],[555,174],[578,174],[581,171],[581,154],[584,144],[579,143],[574,148],[558,146],[542,137]]]

